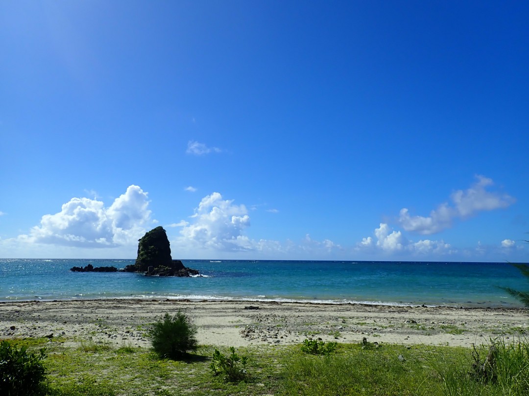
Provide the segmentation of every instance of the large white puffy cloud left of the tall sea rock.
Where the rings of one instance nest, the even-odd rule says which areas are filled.
[[[136,243],[150,223],[147,193],[131,185],[105,207],[102,201],[72,198],[56,214],[42,216],[40,225],[19,239],[73,247],[115,247]]]

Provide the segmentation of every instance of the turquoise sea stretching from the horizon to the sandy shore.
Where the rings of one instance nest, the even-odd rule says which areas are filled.
[[[204,277],[70,272],[134,260],[0,259],[0,301],[189,298],[519,307],[499,286],[529,289],[508,263],[183,260]]]

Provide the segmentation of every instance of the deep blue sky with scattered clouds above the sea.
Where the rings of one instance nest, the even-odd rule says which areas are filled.
[[[524,2],[0,4],[0,257],[527,261]]]

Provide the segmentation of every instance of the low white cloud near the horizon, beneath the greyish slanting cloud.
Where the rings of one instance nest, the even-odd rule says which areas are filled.
[[[450,244],[429,239],[413,242],[408,240],[401,231],[391,230],[386,223],[373,231],[375,238],[366,237],[357,244],[356,250],[370,250],[373,252],[398,253],[408,252],[416,254],[446,254],[451,253]]]

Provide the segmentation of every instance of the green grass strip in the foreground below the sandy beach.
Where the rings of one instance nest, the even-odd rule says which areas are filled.
[[[507,340],[513,341],[513,340]],[[238,348],[248,356],[240,382],[213,376],[214,346],[201,345],[185,360],[160,359],[150,348],[65,347],[46,338],[17,340],[30,350],[45,346],[48,396],[183,395],[524,395],[529,394],[529,342],[497,347],[494,379],[476,378],[488,346],[477,348],[339,344],[330,356],[304,354],[300,345]],[[92,345],[91,343],[88,343]],[[95,344],[96,346],[98,344]],[[216,347],[222,353],[227,348]],[[409,348],[409,349],[408,349]],[[400,358],[399,358],[400,356]]]

